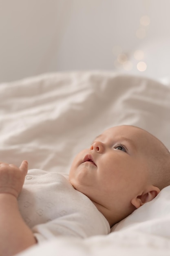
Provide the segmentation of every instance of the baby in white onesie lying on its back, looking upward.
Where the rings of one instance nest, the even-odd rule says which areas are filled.
[[[0,163],[2,256],[54,236],[108,234],[170,185],[170,152],[141,128],[116,126],[75,157],[68,177],[27,169]]]

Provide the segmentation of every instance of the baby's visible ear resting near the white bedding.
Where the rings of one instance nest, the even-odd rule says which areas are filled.
[[[131,204],[134,205],[136,208],[139,208],[146,202],[150,202],[154,199],[160,192],[160,189],[157,186],[149,186],[141,195],[133,198],[131,200]]]

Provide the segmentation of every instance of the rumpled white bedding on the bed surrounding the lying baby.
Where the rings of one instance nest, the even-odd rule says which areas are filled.
[[[0,84],[0,159],[68,173],[73,157],[103,130],[135,125],[170,149],[170,85],[113,72],[61,72]],[[19,254],[170,255],[170,186],[108,236],[60,237]]]

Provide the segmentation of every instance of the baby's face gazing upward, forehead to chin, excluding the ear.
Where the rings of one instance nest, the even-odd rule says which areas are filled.
[[[142,193],[148,181],[150,136],[133,126],[104,131],[75,157],[69,174],[71,184],[113,213],[115,209],[130,210],[132,198]]]

